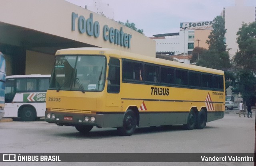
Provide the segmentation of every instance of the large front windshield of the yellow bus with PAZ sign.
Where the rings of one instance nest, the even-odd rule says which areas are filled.
[[[105,75],[104,56],[57,56],[50,89],[100,92],[104,88]]]

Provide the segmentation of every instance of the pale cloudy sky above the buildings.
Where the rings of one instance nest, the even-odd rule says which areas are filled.
[[[66,0],[83,8],[92,0]],[[180,22],[212,21],[224,7],[256,7],[256,0],[102,0],[114,10],[114,20],[135,23],[147,37],[155,34],[179,32]]]

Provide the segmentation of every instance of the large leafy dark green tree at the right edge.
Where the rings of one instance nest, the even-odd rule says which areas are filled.
[[[237,67],[236,82],[232,91],[240,93],[244,102],[255,102],[256,95],[256,21],[243,23],[237,32],[240,51],[234,57]],[[250,101],[250,100],[254,101]],[[252,104],[252,103],[251,103]]]

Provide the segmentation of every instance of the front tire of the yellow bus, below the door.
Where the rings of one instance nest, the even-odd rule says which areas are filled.
[[[124,114],[123,126],[117,128],[117,132],[122,136],[130,136],[134,133],[137,125],[137,117],[134,111],[128,109]]]

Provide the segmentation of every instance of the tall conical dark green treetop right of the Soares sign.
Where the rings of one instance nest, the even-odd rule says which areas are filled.
[[[227,29],[225,29],[224,18],[222,16],[214,18],[212,28],[213,30],[208,36],[209,40],[207,40],[206,43],[209,45],[210,50],[222,53],[223,51],[226,51],[225,33]]]

